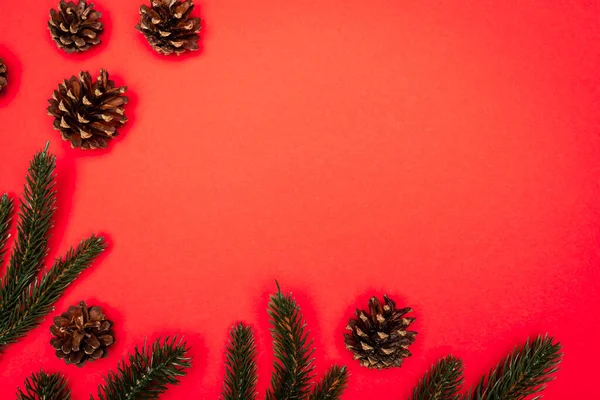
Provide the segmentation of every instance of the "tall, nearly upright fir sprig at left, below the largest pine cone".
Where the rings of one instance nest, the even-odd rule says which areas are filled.
[[[56,203],[56,157],[47,151],[48,145],[33,157],[26,176],[17,239],[0,285],[1,310],[17,306],[23,290],[41,270],[48,251],[48,231],[52,227]]]

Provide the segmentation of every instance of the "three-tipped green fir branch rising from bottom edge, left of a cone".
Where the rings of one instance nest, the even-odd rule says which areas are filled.
[[[315,384],[312,341],[300,307],[291,296],[279,289],[271,296],[268,313],[275,353],[274,372],[267,400],[338,400],[346,388],[348,372],[333,366]],[[252,330],[238,324],[231,329],[225,361],[223,400],[256,399],[258,367]]]

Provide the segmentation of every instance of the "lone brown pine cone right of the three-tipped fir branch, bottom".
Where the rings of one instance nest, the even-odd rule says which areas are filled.
[[[346,348],[354,353],[354,359],[367,368],[400,367],[402,360],[409,357],[410,346],[417,332],[407,331],[415,318],[405,318],[410,308],[396,309],[396,303],[387,295],[381,306],[376,297],[369,300],[370,313],[356,310],[357,319],[351,319],[345,334]]]

